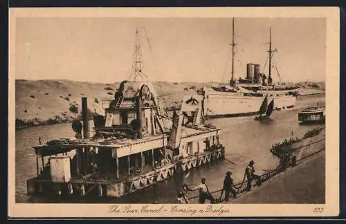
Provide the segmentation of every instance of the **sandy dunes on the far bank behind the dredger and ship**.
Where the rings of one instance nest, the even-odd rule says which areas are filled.
[[[167,108],[179,107],[183,95],[195,94],[202,86],[212,83],[196,82],[154,82],[158,97],[161,97]],[[213,83],[217,84],[217,83]],[[75,106],[80,113],[81,97],[88,97],[88,108],[92,112],[102,113],[102,100],[113,99],[119,82],[113,84],[76,82],[71,80],[16,80],[15,82],[15,116],[17,121],[42,124],[44,121],[71,121],[77,113],[71,112]],[[303,94],[317,93],[318,88],[302,83]],[[317,91],[317,92],[316,92]]]

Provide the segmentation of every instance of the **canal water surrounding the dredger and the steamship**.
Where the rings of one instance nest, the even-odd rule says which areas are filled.
[[[275,142],[285,138],[302,137],[304,133],[320,124],[298,124],[298,111],[302,106],[325,103],[325,95],[309,95],[298,98],[295,108],[274,111],[270,120],[255,121],[253,116],[239,118],[217,118],[208,123],[221,127],[221,141],[226,146],[226,158],[220,162],[199,167],[185,174],[174,176],[156,185],[147,187],[121,199],[90,198],[82,196],[28,196],[26,180],[36,176],[35,153],[30,146],[59,138],[74,138],[71,124],[53,124],[17,130],[15,135],[15,198],[16,203],[176,203],[176,191],[184,183],[190,187],[198,185],[202,177],[210,191],[222,187],[226,171],[231,171],[235,183],[244,177],[244,169],[250,160],[255,161],[256,173],[262,174],[277,166],[278,160],[269,149]],[[198,192],[189,192],[188,197]],[[215,194],[219,196],[219,194]]]

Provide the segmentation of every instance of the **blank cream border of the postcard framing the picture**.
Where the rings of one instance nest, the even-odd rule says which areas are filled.
[[[192,217],[190,214],[174,214],[171,205],[164,205],[167,212],[160,214],[109,213],[109,205],[95,204],[16,204],[15,203],[15,27],[17,17],[325,17],[326,41],[326,203],[325,205],[284,204],[228,204],[230,213],[214,216],[337,216],[339,213],[339,34],[340,11],[331,7],[282,7],[282,8],[10,8],[9,20],[9,86],[8,86],[8,216],[19,217]],[[125,206],[125,205],[120,205]],[[143,205],[133,205],[140,209]],[[162,205],[149,205],[152,209]],[[180,208],[205,208],[207,205],[178,205]],[[219,205],[218,207],[221,207]],[[321,214],[313,213],[315,207],[323,207]],[[208,217],[198,213],[196,217]]]

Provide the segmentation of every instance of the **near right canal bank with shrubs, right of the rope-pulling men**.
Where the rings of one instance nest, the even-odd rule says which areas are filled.
[[[325,129],[311,129],[284,149],[297,165],[229,203],[325,203]]]

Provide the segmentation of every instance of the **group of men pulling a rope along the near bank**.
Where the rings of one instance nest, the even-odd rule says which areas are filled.
[[[248,163],[248,166],[245,169],[245,176],[247,180],[247,185],[246,185],[246,191],[250,191],[252,187],[253,180],[256,180],[257,185],[261,185],[261,177],[255,174],[255,168],[253,165],[255,162],[251,160]],[[239,188],[235,187],[233,184],[233,178],[231,177],[231,172],[227,171],[226,176],[224,178],[224,185],[221,189],[221,196],[219,200],[221,200],[221,197],[223,193],[225,192],[225,201],[228,201],[230,199],[230,194],[232,194],[233,198],[237,197],[237,194],[239,194]],[[244,180],[243,180],[244,182]],[[210,200],[210,203],[217,203],[217,200],[212,196],[208,189],[208,185],[206,184],[206,178],[201,178],[201,184],[199,184],[196,187],[190,188],[188,185],[184,185],[183,189],[179,190],[178,193],[178,202],[181,204],[188,204],[188,198],[185,196],[185,192],[188,191],[195,191],[199,190],[199,204],[204,204],[206,200]]]

